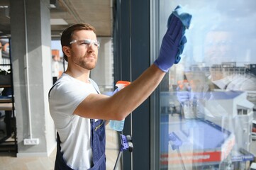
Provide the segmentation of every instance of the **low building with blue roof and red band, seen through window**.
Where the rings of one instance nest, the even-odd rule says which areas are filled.
[[[228,155],[235,143],[233,133],[208,120],[167,123],[168,119],[167,115],[161,115],[162,169],[182,169],[182,164],[187,169],[221,169],[228,162]],[[176,140],[169,139],[168,134],[171,133],[177,135],[180,145]]]

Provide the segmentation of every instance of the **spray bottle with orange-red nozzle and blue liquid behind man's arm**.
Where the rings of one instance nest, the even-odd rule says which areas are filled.
[[[129,81],[117,81],[116,86],[117,90],[113,92],[113,94],[116,94],[116,92],[121,91],[121,89],[125,88],[130,84]],[[123,131],[124,126],[124,119],[123,120],[110,120],[109,121],[110,128],[116,131]]]

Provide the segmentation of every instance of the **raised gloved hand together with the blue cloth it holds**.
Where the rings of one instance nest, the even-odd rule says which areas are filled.
[[[189,28],[191,15],[184,13],[181,6],[177,6],[174,12],[169,16],[167,23],[167,32],[162,39],[160,54],[154,64],[163,72],[168,72],[173,64],[177,64],[181,59],[179,55],[184,50],[184,44],[187,38],[184,36],[185,30]]]

